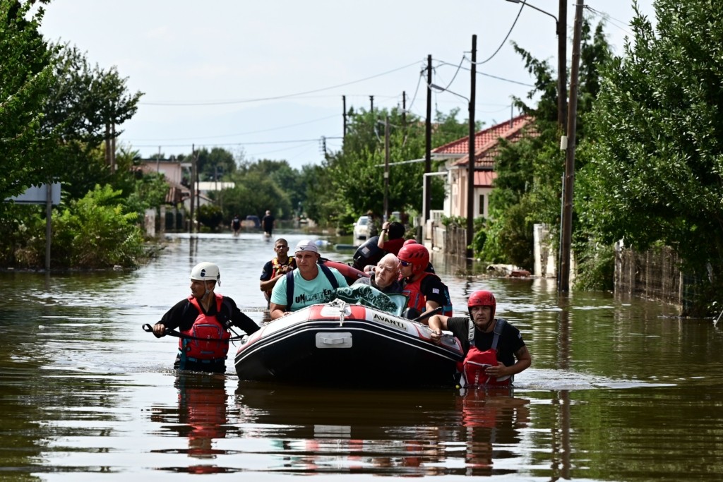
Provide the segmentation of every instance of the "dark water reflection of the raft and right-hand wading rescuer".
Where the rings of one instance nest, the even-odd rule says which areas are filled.
[[[247,435],[273,437],[292,473],[513,473],[529,400],[497,392],[356,391],[241,382]],[[505,448],[507,447],[507,448]],[[497,468],[496,465],[500,465]]]

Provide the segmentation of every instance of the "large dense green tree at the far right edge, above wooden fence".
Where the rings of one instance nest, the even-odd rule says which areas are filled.
[[[723,301],[723,4],[657,0],[604,69],[576,209],[607,243],[675,249]],[[719,308],[717,309],[719,311]]]

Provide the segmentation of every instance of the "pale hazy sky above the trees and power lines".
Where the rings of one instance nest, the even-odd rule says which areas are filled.
[[[652,1],[638,2],[650,17]],[[557,17],[557,0],[529,4]],[[632,0],[585,4],[622,53]],[[375,109],[392,108],[404,92],[408,110],[424,118],[428,55],[432,82],[469,97],[472,35],[475,118],[486,126],[508,119],[511,98],[526,97],[532,83],[510,40],[557,67],[555,20],[520,10],[505,0],[54,0],[40,30],[92,64],[117,66],[129,90],[145,92],[120,126],[121,144],[166,157],[219,146],[299,168],[322,160],[321,137],[330,150],[341,145],[342,95],[347,108],[369,110],[370,95]],[[468,118],[465,99],[435,92],[432,100],[433,111],[460,108],[458,119]]]

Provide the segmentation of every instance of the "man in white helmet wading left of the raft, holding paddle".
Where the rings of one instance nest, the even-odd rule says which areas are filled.
[[[236,326],[251,334],[259,326],[241,313],[228,296],[214,293],[221,285],[218,266],[209,262],[196,264],[191,270],[191,295],[178,303],[153,325],[153,335],[160,338],[167,330],[179,329],[179,353],[174,369],[226,372],[229,330]]]

